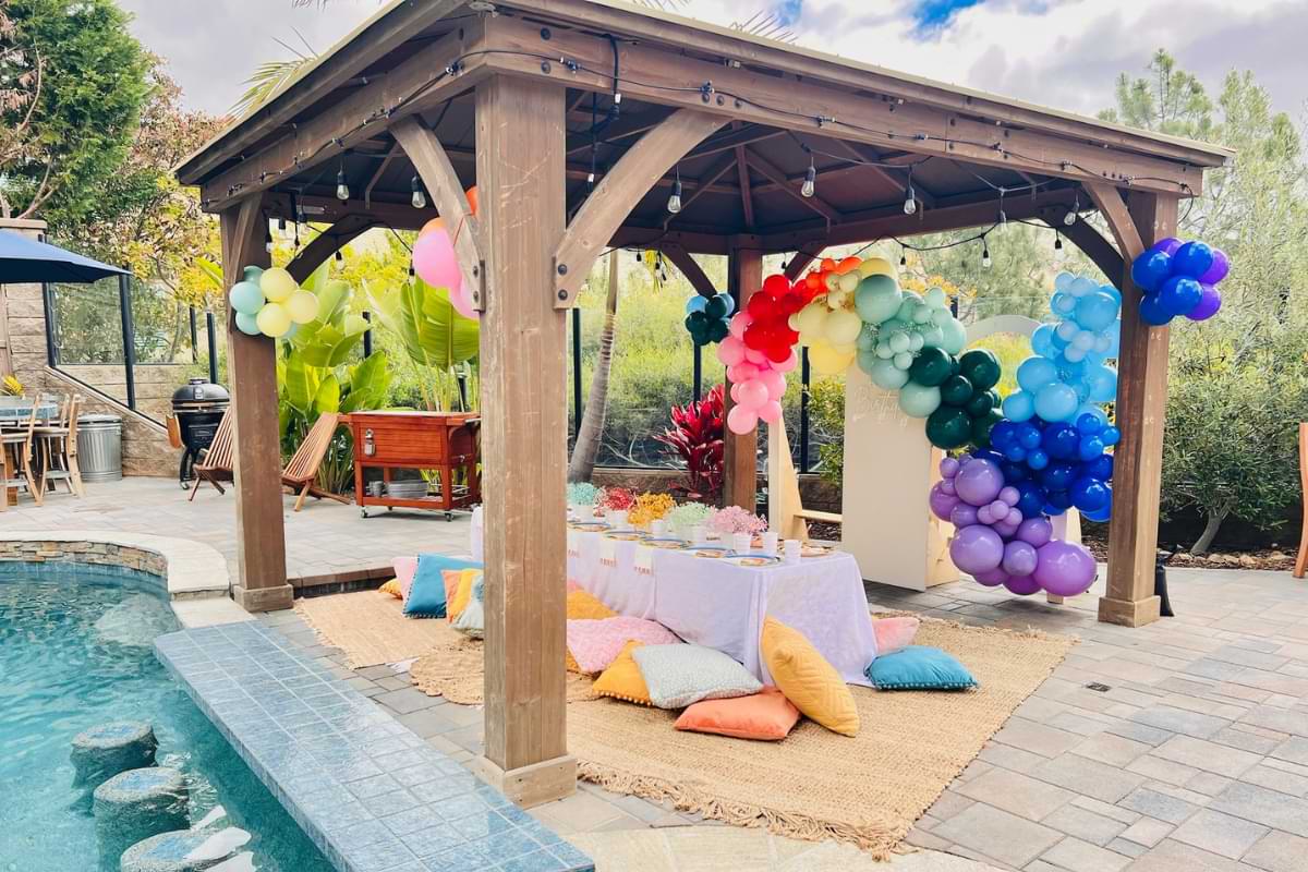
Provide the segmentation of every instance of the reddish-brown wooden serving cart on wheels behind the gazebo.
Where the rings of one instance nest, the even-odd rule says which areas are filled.
[[[354,438],[354,501],[368,518],[369,506],[428,509],[454,519],[455,509],[481,502],[477,463],[480,416],[445,412],[353,412],[341,417]],[[370,494],[365,469],[382,471],[382,493]],[[430,469],[439,475],[438,494],[392,497],[386,493],[394,469]],[[455,485],[455,472],[463,473]]]

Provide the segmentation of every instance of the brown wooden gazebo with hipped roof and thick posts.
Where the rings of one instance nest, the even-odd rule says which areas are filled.
[[[566,310],[608,246],[726,255],[731,290],[769,252],[1045,221],[1125,298],[1108,595],[1154,596],[1168,331],[1135,312],[1129,263],[1228,152],[799,50],[617,0],[395,0],[181,169],[221,216],[229,280],[267,265],[268,222],[331,225],[306,277],[370,227],[454,229],[483,310],[488,775],[523,803],[570,792],[564,719]],[[816,175],[812,196],[804,180]],[[430,205],[411,203],[413,178]],[[337,197],[344,182],[348,196]],[[479,212],[464,190],[479,187]],[[668,210],[678,190],[681,209]],[[340,191],[347,193],[347,191]],[[905,201],[917,207],[908,214]],[[1097,209],[1103,238],[1080,214]],[[1065,225],[1073,213],[1078,218]],[[229,328],[238,601],[285,608],[273,343]],[[753,434],[729,498],[753,505]]]

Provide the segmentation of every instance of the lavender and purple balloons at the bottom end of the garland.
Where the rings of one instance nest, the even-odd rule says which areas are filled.
[[[999,464],[976,455],[940,461],[930,506],[957,529],[950,541],[954,565],[986,587],[1025,596],[1046,591],[1078,596],[1095,583],[1095,558],[1080,545],[1053,539],[1053,524],[1022,510],[1022,494]]]

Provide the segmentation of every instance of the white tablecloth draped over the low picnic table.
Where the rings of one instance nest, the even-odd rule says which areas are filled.
[[[481,539],[476,510],[476,560]],[[869,684],[863,669],[876,656],[876,635],[852,554],[753,567],[569,529],[568,578],[620,614],[658,621],[687,642],[731,655],[764,684],[772,677],[759,638],[768,617],[803,633],[846,682]]]

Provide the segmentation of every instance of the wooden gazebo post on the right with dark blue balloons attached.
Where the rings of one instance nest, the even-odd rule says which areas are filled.
[[[1116,205],[1116,204],[1114,204]],[[1176,233],[1175,195],[1131,191],[1129,220],[1148,247]],[[1116,220],[1103,210],[1109,224]],[[1131,234],[1113,227],[1118,244]],[[1158,502],[1163,478],[1163,424],[1167,412],[1168,328],[1141,320],[1141,290],[1130,264],[1139,252],[1122,251],[1122,340],[1117,379],[1117,426],[1122,441],[1113,452],[1113,514],[1108,532],[1108,592],[1099,620],[1142,626],[1159,618],[1154,595],[1158,552]]]

